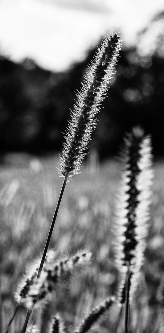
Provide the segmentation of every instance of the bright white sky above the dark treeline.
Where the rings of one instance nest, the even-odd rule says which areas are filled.
[[[52,71],[85,57],[107,32],[119,30],[124,45],[158,11],[163,0],[0,0],[0,50]]]

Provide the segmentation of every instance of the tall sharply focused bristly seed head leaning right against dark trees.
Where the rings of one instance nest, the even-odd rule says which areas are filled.
[[[121,37],[117,33],[103,39],[77,94],[60,155],[59,175],[68,180],[78,172],[86,155],[91,133],[96,127],[96,113],[109,88],[120,49]]]

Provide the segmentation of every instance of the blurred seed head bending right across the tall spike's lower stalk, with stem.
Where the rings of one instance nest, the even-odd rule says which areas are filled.
[[[76,269],[86,267],[90,263],[92,256],[88,250],[79,250],[75,255],[60,258],[60,260],[60,254],[55,253],[55,259],[52,260],[53,251],[50,251],[50,254],[50,258],[48,257],[45,262],[40,279],[37,279],[31,285],[28,294],[22,299],[22,302],[28,308],[28,313],[21,333],[26,332],[26,327],[34,308],[44,305],[51,299],[52,291],[55,289],[56,284],[62,280],[63,275],[68,272],[73,274]]]

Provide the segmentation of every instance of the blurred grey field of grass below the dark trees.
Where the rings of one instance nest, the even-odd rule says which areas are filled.
[[[7,164],[0,167],[2,332],[16,304],[14,292],[19,279],[27,264],[44,249],[63,182],[56,172],[57,162],[57,156],[37,160],[13,155],[6,157]],[[133,332],[164,330],[164,287],[163,293],[159,292],[164,274],[164,160],[155,161],[153,167],[145,263],[135,303],[130,308]],[[67,332],[73,332],[93,306],[115,294],[118,274],[113,259],[112,223],[120,177],[116,160],[100,165],[85,162],[81,173],[66,185],[50,247],[58,251],[85,247],[93,253],[93,258],[88,268],[54,292],[49,310],[42,316],[43,332],[47,316],[56,312],[64,319]],[[25,315],[22,306],[11,333],[19,332]],[[112,332],[117,315],[117,307],[111,307],[94,332]],[[38,317],[36,313],[34,317]],[[122,325],[118,332],[122,332]]]

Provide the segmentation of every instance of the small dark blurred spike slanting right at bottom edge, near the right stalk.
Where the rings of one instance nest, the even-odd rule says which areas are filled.
[[[86,333],[90,330],[91,326],[104,314],[104,312],[113,304],[115,298],[107,298],[99,306],[92,309],[88,315],[82,320],[80,326],[75,330],[75,333]]]

